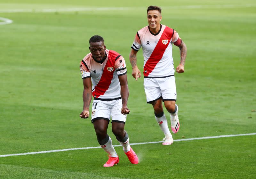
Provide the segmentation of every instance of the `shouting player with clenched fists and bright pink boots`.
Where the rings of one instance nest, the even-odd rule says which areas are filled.
[[[89,40],[89,50],[80,64],[84,91],[84,109],[81,118],[89,117],[89,106],[92,103],[92,123],[100,146],[109,154],[104,167],[112,167],[119,162],[119,157],[107,134],[111,116],[112,132],[123,146],[124,153],[132,164],[138,164],[138,156],[132,150],[127,132],[124,130],[129,89],[124,57],[115,51],[106,49],[104,40],[94,35]]]

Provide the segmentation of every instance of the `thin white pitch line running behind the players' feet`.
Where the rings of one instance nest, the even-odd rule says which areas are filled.
[[[209,137],[197,137],[197,138],[189,138],[189,139],[177,139],[173,140],[174,142],[179,141],[187,141],[187,140],[202,140],[202,139],[216,139],[216,138],[223,138],[223,137],[236,137],[236,136],[248,136],[248,135],[256,135],[256,133],[247,133],[247,134],[231,134],[231,135],[220,135],[220,136],[209,136]],[[131,146],[135,145],[143,145],[143,144],[156,144],[161,143],[163,141],[158,142],[140,142],[140,143],[132,143]],[[121,145],[114,145],[114,147],[121,147]],[[0,157],[9,157],[9,156],[17,156],[17,155],[30,155],[30,154],[44,154],[44,153],[52,153],[52,152],[63,152],[63,151],[70,151],[70,150],[84,150],[84,149],[94,149],[94,148],[101,148],[99,147],[81,147],[81,148],[67,148],[67,149],[60,149],[60,150],[47,150],[47,151],[40,151],[40,152],[28,152],[28,153],[21,153],[21,154],[7,154],[7,155],[0,155]]]

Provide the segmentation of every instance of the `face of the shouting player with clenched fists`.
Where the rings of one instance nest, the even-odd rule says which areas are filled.
[[[89,49],[92,53],[92,57],[96,61],[101,61],[106,55],[106,46],[104,45],[104,42],[91,42]]]

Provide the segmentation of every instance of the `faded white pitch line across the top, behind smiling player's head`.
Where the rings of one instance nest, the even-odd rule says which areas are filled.
[[[188,5],[188,6],[163,6],[162,8],[172,9],[204,9],[204,8],[250,8],[256,4],[244,5]],[[72,8],[44,8],[44,9],[6,9],[0,10],[0,13],[20,13],[20,12],[76,12],[76,11],[133,11],[134,9],[145,9],[145,7],[72,7]]]

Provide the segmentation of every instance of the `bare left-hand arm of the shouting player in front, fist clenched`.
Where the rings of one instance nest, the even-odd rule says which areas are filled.
[[[80,118],[88,118],[89,113],[89,107],[90,103],[92,101],[92,81],[91,78],[85,78],[83,79],[84,84],[84,91],[83,91],[83,101],[84,101],[84,107],[83,111],[80,113]]]

